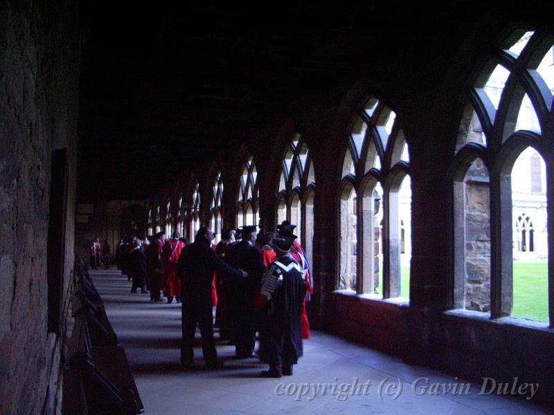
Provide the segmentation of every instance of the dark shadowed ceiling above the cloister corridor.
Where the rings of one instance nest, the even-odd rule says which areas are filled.
[[[303,95],[409,50],[456,3],[85,3],[78,199],[148,197]]]

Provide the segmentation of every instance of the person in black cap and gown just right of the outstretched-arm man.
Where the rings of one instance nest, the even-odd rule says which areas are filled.
[[[256,344],[254,300],[265,273],[262,252],[255,246],[256,235],[256,226],[243,226],[242,240],[231,245],[226,254],[228,264],[247,271],[249,275],[247,279],[235,281],[230,288],[233,342],[239,359],[252,356]]]

